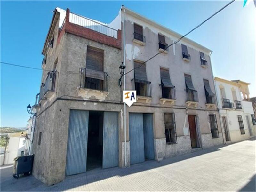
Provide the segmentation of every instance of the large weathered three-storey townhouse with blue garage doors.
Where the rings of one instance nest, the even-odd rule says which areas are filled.
[[[212,51],[188,38],[166,49],[180,36],[124,6],[110,24],[56,8],[33,106],[33,175],[51,185],[223,144]],[[131,72],[120,87],[122,63]],[[131,107],[122,90],[136,90]]]

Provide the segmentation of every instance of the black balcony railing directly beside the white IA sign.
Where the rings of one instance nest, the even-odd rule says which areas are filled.
[[[151,82],[139,79],[132,79],[133,90],[139,96],[152,97]]]

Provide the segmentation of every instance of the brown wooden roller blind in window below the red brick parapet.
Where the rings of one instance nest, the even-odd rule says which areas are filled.
[[[103,51],[87,47],[86,69],[103,71]]]

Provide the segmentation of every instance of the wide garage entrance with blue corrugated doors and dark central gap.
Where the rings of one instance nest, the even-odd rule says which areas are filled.
[[[118,112],[70,110],[66,175],[118,166]]]

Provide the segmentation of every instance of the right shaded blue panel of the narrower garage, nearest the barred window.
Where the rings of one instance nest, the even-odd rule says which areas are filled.
[[[152,113],[143,113],[143,130],[144,130],[145,158],[155,159]]]

